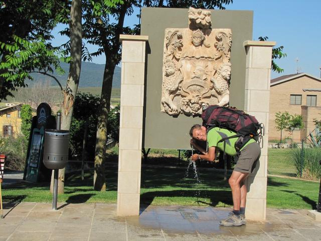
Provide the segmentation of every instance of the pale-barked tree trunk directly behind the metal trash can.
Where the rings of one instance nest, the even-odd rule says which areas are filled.
[[[70,10],[70,66],[64,101],[62,107],[62,130],[70,130],[71,117],[74,109],[74,101],[77,94],[82,52],[82,25],[81,25],[81,0],[73,0]],[[53,183],[51,183],[53,185]],[[59,170],[58,193],[64,193],[65,168]]]

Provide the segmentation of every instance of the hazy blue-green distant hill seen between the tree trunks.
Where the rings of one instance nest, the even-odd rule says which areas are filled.
[[[61,67],[65,70],[65,74],[60,75],[57,72],[55,72],[53,75],[59,80],[62,86],[65,86],[69,72],[69,64],[62,63]],[[101,87],[102,77],[104,74],[104,67],[104,64],[82,62],[79,87]],[[116,66],[112,81],[113,88],[120,88],[120,73],[121,68]],[[29,87],[32,87],[34,83],[40,80],[50,80],[52,86],[58,86],[57,82],[49,76],[33,73],[32,77],[34,78],[34,81],[27,81]]]

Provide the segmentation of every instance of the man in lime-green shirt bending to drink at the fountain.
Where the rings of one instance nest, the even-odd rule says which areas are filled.
[[[205,150],[199,150],[202,154],[194,154],[191,157],[192,161],[206,160],[214,162],[215,150],[218,148],[224,151],[230,156],[236,156],[237,163],[234,167],[231,177],[229,178],[229,184],[232,191],[233,199],[233,211],[229,214],[227,219],[220,221],[222,226],[241,226],[245,224],[245,205],[246,205],[246,193],[247,188],[245,180],[249,173],[252,173],[261,155],[261,149],[255,140],[250,139],[245,146],[237,152],[234,148],[236,138],[230,138],[224,142],[220,142],[223,138],[236,135],[235,132],[229,131],[223,128],[212,128],[208,133],[207,129],[201,125],[194,125],[190,130],[190,136],[198,141],[207,141],[208,152]],[[194,142],[191,140],[191,144]],[[194,146],[196,149],[198,145]]]

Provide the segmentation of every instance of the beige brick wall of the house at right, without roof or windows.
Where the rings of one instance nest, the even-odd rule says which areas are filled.
[[[270,114],[269,114],[269,140],[279,140],[280,131],[275,128],[275,113],[278,111],[288,111],[290,114],[302,114],[304,121],[304,129],[293,132],[293,140],[299,142],[314,129],[313,118],[320,119],[321,115],[321,92],[319,91],[303,91],[304,88],[321,88],[321,81],[303,75],[297,78],[290,79],[275,85],[270,86]],[[290,95],[302,95],[301,105],[290,104]],[[306,105],[306,96],[316,95],[316,107]],[[291,134],[282,131],[282,139],[290,137]]]

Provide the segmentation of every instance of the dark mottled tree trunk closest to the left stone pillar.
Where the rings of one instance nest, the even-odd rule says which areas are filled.
[[[128,4],[128,3],[127,3]],[[123,32],[124,18],[127,10],[127,4],[121,6],[117,28],[114,35],[114,44],[112,49],[108,49],[108,45],[104,46],[106,55],[106,64],[102,82],[102,90],[100,97],[100,112],[98,115],[96,148],[95,148],[95,172],[94,172],[94,190],[106,191],[105,178],[105,152],[107,143],[107,115],[110,109],[110,97],[112,88],[112,77],[116,64],[119,62],[118,52],[120,50],[119,35]],[[102,30],[103,31],[103,30]],[[106,41],[106,40],[105,40]]]

